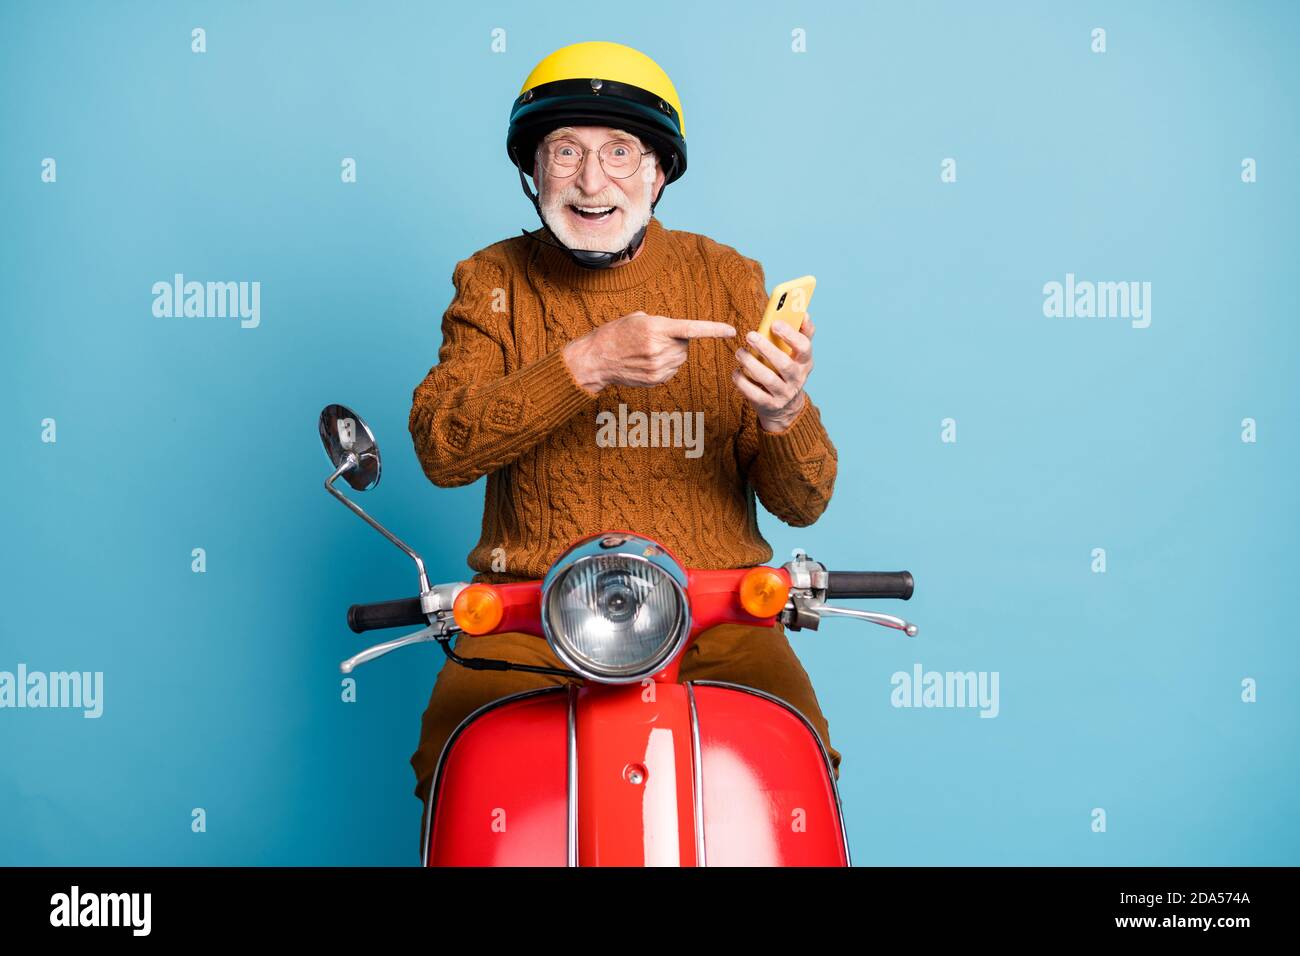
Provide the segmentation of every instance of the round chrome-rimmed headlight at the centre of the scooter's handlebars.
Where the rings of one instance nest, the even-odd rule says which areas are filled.
[[[649,538],[586,538],[546,575],[542,630],[578,674],[610,684],[641,680],[672,659],[690,632],[686,574]]]

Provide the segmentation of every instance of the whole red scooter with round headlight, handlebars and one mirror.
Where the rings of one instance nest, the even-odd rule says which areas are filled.
[[[816,630],[823,617],[915,636],[889,614],[828,597],[911,597],[906,571],[827,571],[800,554],[784,567],[684,568],[662,545],[611,531],[573,542],[541,581],[429,585],[411,548],[335,488],[378,484],[374,436],[348,408],[321,412],[334,464],[325,489],[415,561],[420,594],[354,605],[360,633],[422,626],[344,661],[422,641],[451,663],[581,678],[511,695],[467,717],[429,791],[428,866],[848,866],[835,774],[822,739],[785,701],[740,684],[677,679],[681,654],[716,624]],[[567,669],[464,658],[459,635],[521,631]],[[469,825],[469,821],[473,821]]]

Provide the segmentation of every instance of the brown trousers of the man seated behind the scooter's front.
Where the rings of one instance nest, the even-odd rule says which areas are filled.
[[[490,657],[515,663],[564,666],[543,639],[515,631],[486,637],[463,636],[456,641],[456,653],[462,657]],[[681,658],[679,678],[729,680],[780,697],[816,728],[831,757],[835,777],[840,778],[840,752],[831,747],[829,724],[812,692],[812,682],[794,656],[794,649],[780,624],[776,627],[720,624],[701,632]],[[573,682],[575,678],[558,674],[474,671],[447,661],[438,672],[433,693],[429,696],[429,706],[421,718],[420,747],[411,756],[416,777],[415,795],[425,804],[425,814],[438,756],[462,721],[484,704],[506,695]],[[425,823],[426,821],[421,819],[421,848]]]

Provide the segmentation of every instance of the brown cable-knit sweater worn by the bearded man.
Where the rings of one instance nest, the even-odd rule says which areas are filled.
[[[755,492],[786,524],[811,524],[826,509],[836,451],[816,407],[807,401],[786,431],[766,432],[731,380],[734,351],[767,304],[757,261],[651,219],[641,251],[615,268],[585,269],[519,235],[458,263],[452,282],[438,364],[415,389],[410,428],[436,485],[488,475],[482,537],[469,553],[476,581],[542,578],[571,541],[611,529],[647,535],[688,567],[760,564],[772,549]],[[562,349],[637,310],[731,323],[737,337],[692,341],[663,385],[593,397]],[[611,445],[620,403],[625,440]],[[659,418],[650,428],[651,412],[680,412],[681,424]],[[694,412],[703,434],[692,447],[681,427],[688,415],[698,421]]]

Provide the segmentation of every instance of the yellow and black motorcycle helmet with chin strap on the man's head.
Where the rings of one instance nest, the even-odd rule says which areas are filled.
[[[528,74],[510,111],[506,153],[519,170],[519,183],[542,215],[538,196],[525,176],[534,176],[537,144],[560,126],[614,126],[641,137],[658,155],[663,187],[686,172],[686,129],[681,100],[668,74],[649,56],[621,43],[588,40],[560,47]],[[543,220],[545,222],[545,220]],[[525,235],[532,235],[526,229]],[[612,265],[636,251],[642,230],[620,252],[594,252],[563,247],[589,268]],[[550,243],[554,245],[554,243]]]

